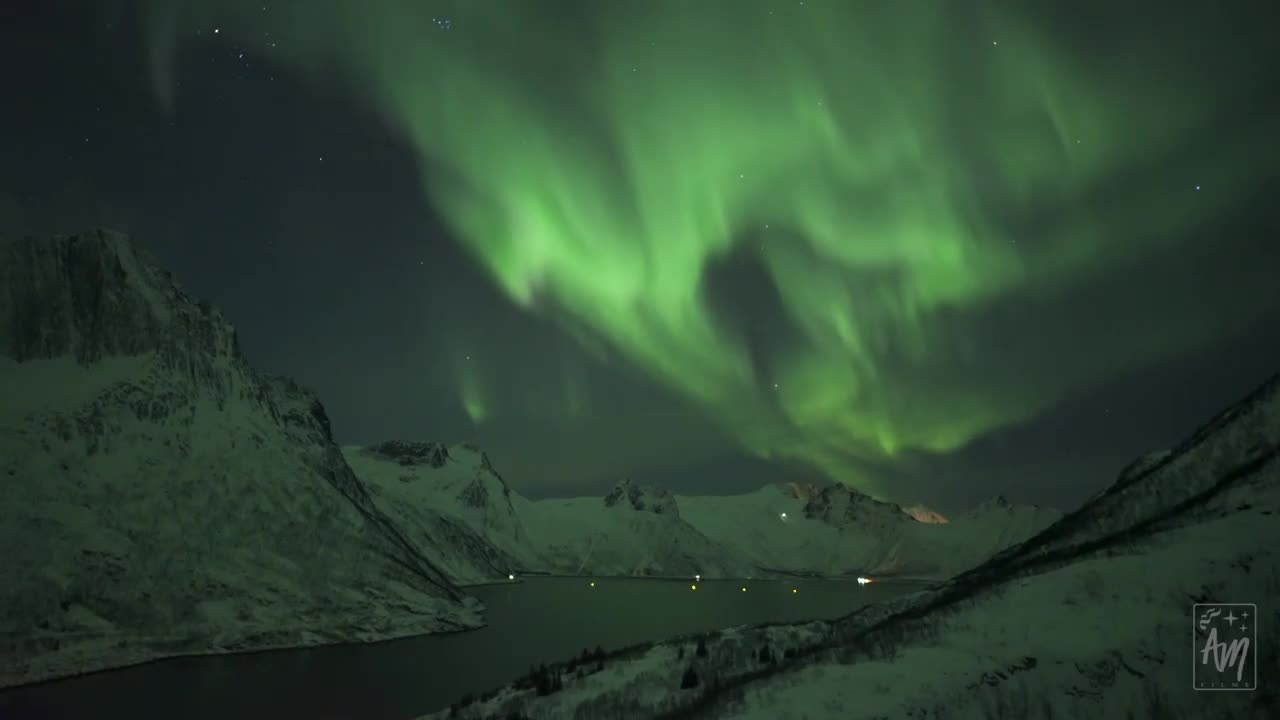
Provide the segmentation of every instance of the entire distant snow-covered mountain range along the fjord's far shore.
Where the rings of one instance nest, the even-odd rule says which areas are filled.
[[[794,483],[736,496],[673,496],[622,480],[603,498],[531,501],[471,446],[390,441],[343,452],[379,507],[462,583],[526,570],[941,579],[1059,516],[996,500],[951,523],[922,521],[842,486]]]

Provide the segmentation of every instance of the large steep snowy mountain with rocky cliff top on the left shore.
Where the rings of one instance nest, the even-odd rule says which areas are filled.
[[[0,240],[0,685],[479,625],[320,402],[129,240]]]

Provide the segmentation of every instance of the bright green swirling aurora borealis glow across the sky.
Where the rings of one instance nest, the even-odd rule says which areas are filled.
[[[161,117],[216,47],[383,123],[445,236],[407,242],[460,249],[506,306],[475,318],[520,328],[436,306],[452,320],[398,395],[481,442],[559,428],[509,443],[536,460],[495,452],[526,474],[678,465],[700,428],[933,502],[959,480],[922,478],[931,459],[1253,337],[1280,307],[1261,5],[123,6]],[[415,395],[428,373],[449,389]],[[590,470],[571,460],[584,445]]]

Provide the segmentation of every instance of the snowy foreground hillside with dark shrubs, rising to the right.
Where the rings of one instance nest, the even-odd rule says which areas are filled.
[[[1253,692],[1193,689],[1190,635],[1196,602],[1254,602],[1258,628],[1280,623],[1277,456],[1274,378],[937,588],[832,623],[733,628],[553,667],[556,692],[513,684],[449,716],[1280,717],[1274,633],[1253,648]]]

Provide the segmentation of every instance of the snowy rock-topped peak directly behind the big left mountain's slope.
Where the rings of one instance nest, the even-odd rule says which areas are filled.
[[[538,565],[511,488],[474,446],[389,441],[344,447],[378,506],[460,583]]]

